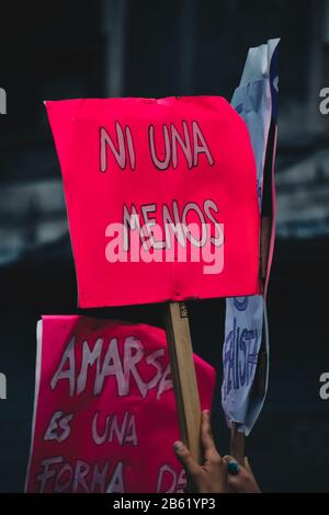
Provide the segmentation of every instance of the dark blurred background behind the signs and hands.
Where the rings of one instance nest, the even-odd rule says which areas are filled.
[[[328,491],[329,1],[90,0],[1,3],[0,491],[23,490],[35,324],[79,312],[61,181],[44,99],[220,94],[250,46],[281,37],[277,236],[269,294],[270,388],[247,454],[264,491]],[[190,306],[195,351],[220,374],[224,302]],[[91,312],[91,311],[89,311]],[[161,324],[161,307],[95,311]],[[214,424],[228,430],[219,388]]]

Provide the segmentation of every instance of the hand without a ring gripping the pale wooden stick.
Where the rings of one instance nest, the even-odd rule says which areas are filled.
[[[182,442],[173,444],[175,456],[185,468],[189,490],[196,493],[228,493],[227,462],[215,447],[208,411],[202,413],[200,437],[204,453],[203,465],[195,461]]]

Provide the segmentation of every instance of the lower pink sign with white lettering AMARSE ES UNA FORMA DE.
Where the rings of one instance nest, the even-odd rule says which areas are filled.
[[[177,492],[185,485],[164,331],[43,317],[27,492]],[[214,369],[195,356],[203,409]]]

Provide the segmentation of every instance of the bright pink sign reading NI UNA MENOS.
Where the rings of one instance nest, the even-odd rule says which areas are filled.
[[[224,99],[46,107],[81,307],[259,293],[254,157]]]

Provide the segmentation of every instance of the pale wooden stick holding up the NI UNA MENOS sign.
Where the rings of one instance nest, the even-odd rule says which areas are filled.
[[[166,331],[181,439],[201,464],[201,407],[184,302],[170,302],[167,306]]]

